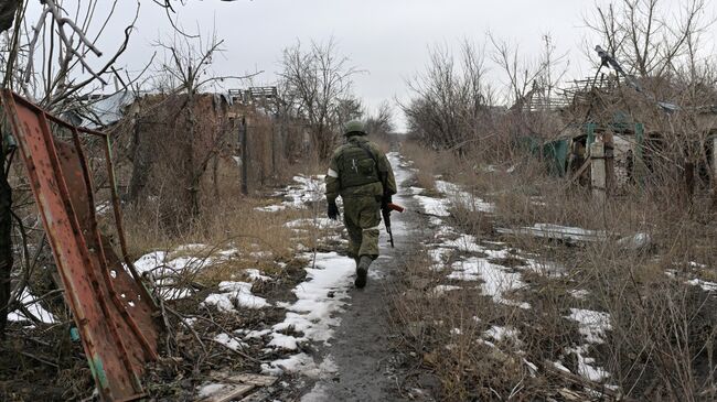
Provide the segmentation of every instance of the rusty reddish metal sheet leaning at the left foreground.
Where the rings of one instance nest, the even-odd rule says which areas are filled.
[[[100,395],[108,401],[142,398],[145,363],[157,359],[157,306],[127,257],[107,135],[77,129],[8,90],[2,104]],[[51,123],[68,130],[72,140],[53,135]],[[98,230],[81,133],[105,140],[125,263]]]

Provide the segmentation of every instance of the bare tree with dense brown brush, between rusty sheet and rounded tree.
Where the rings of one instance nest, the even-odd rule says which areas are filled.
[[[140,189],[147,185],[152,166],[157,163],[169,164],[169,167],[164,167],[171,172],[172,178],[167,181],[178,181],[174,187],[179,194],[168,197],[167,203],[174,203],[168,205],[168,208],[185,213],[180,214],[180,221],[172,221],[172,225],[185,225],[191,220],[186,218],[199,215],[202,177],[210,162],[227,149],[227,135],[233,129],[228,122],[223,122],[218,115],[208,116],[212,113],[206,110],[200,112],[200,93],[211,85],[227,80],[240,82],[260,74],[215,74],[212,63],[223,52],[223,42],[212,34],[207,40],[202,36],[174,35],[169,43],[156,43],[163,52],[163,57],[154,68],[151,85],[159,89],[165,100],[149,107],[149,110],[161,107],[173,110],[175,116],[171,118],[173,121],[167,121],[170,118],[164,111],[145,111],[142,116],[137,117],[135,130],[147,131],[132,138],[130,159],[133,170],[128,196],[130,200],[137,200]],[[217,105],[214,113],[218,108]],[[172,126],[175,129],[170,130],[171,132],[153,129],[158,122],[162,127]],[[170,144],[167,143],[168,140],[171,140]]]

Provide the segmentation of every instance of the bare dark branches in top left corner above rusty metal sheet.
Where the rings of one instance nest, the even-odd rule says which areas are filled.
[[[110,53],[101,52],[95,43],[115,18],[118,2],[115,0],[109,8],[98,8],[97,3],[92,0],[66,8],[54,0],[43,0],[36,21],[23,14],[12,36],[1,46],[3,86],[60,112],[76,107],[78,95],[101,88],[113,78],[131,80],[120,76],[116,64],[129,44],[139,2],[133,20],[124,30],[122,41]]]

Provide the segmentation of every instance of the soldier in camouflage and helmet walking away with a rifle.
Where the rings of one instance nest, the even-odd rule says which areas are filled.
[[[366,285],[368,267],[378,257],[381,209],[396,194],[396,180],[388,159],[366,138],[364,123],[345,124],[346,143],[331,157],[327,173],[328,215],[339,217],[336,197],[343,199],[343,221],[349,230],[349,256],[356,261],[355,285]]]

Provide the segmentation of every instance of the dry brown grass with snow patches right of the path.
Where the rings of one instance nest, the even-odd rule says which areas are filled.
[[[580,344],[577,326],[565,318],[570,308],[610,314],[612,330],[604,344],[590,349],[589,356],[611,373],[611,382],[620,385],[627,396],[691,401],[716,398],[717,300],[714,292],[686,283],[694,278],[716,276],[717,230],[709,224],[714,218],[705,207],[708,203],[688,207],[679,196],[678,184],[665,178],[661,186],[633,188],[602,205],[585,188],[545,175],[537,161],[516,160],[489,172],[475,163],[481,159],[453,159],[452,165],[441,166],[437,155],[431,159],[426,154],[430,151],[415,145],[403,150],[409,159],[421,161],[416,164],[426,170],[422,176],[440,174],[495,204],[492,215],[454,208],[453,225],[475,235],[479,241],[500,239],[513,250],[537,254],[533,258],[565,270],[557,278],[521,271],[528,286],[516,298],[528,302],[533,306],[529,311],[477,297],[480,291],[475,289],[417,301],[396,297],[397,323],[428,323],[421,338],[411,335],[408,343],[420,349],[419,357],[432,354],[429,362],[421,363],[440,379],[445,400],[507,399],[513,392],[514,400],[560,398],[565,387],[581,398],[590,398],[570,378],[556,377],[542,366],[560,358],[568,345]],[[510,165],[515,167],[507,173],[505,167]],[[603,230],[608,237],[604,241],[571,245],[529,236],[499,237],[494,230],[536,222]],[[619,242],[638,232],[650,236],[649,247],[629,249]],[[429,264],[428,260],[416,260],[406,269],[409,275],[431,275],[432,285],[446,283],[445,274],[436,275],[426,269]],[[411,289],[411,283],[407,287]],[[574,297],[568,293],[571,290],[587,291],[587,297]],[[473,316],[481,323],[475,324]],[[485,330],[485,323],[520,330],[522,354],[517,356],[538,365],[541,370],[535,377],[526,374],[524,363],[514,361],[515,348],[511,345],[499,347],[507,357],[496,357],[490,348],[474,343],[477,335]],[[451,334],[452,328],[459,328],[461,334]],[[577,371],[577,361],[566,356],[563,359],[572,372]],[[604,398],[610,399],[609,394]]]

